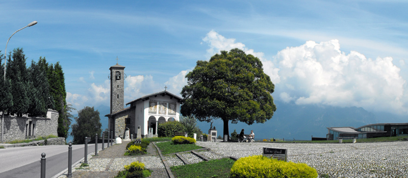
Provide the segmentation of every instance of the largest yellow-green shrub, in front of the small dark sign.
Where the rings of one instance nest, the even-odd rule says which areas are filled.
[[[256,155],[237,160],[231,168],[231,177],[315,178],[317,171],[304,163],[285,162]]]

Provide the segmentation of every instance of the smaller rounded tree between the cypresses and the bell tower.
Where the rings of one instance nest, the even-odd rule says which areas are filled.
[[[72,125],[71,136],[73,144],[84,144],[85,137],[95,137],[95,134],[102,132],[100,124],[99,111],[93,107],[86,106],[78,111],[78,117],[75,117],[77,123]]]

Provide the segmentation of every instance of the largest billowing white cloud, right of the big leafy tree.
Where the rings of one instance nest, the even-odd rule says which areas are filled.
[[[260,58],[264,72],[271,77],[275,93],[284,102],[358,106],[368,110],[407,113],[408,93],[400,69],[392,57],[366,58],[365,55],[340,50],[338,40],[308,41],[279,51],[271,60],[235,39],[210,31],[202,39],[210,48],[208,55],[239,48]],[[403,66],[404,61],[399,61]]]

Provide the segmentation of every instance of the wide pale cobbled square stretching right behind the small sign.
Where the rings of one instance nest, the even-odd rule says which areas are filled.
[[[271,143],[201,142],[223,156],[262,155],[263,147],[287,149],[288,161],[306,163],[330,177],[408,177],[408,142]],[[200,152],[200,154],[203,154]]]

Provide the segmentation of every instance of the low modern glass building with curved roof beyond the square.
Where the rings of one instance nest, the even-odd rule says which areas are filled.
[[[359,128],[328,127],[327,140],[376,138],[387,136],[408,136],[408,123],[370,124]]]

